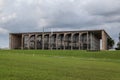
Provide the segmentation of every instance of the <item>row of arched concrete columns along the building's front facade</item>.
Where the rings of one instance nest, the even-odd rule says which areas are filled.
[[[89,49],[89,47],[88,47],[88,43],[89,43],[89,39],[88,39],[88,37],[89,37],[89,35],[88,35],[88,32],[84,32],[84,33],[86,33],[87,34],[87,50]],[[63,49],[65,50],[65,40],[66,40],[66,35],[68,35],[68,34],[70,34],[71,35],[71,50],[73,50],[73,37],[77,34],[78,35],[78,45],[79,45],[79,50],[81,49],[81,45],[83,46],[83,43],[81,42],[81,35],[83,34],[83,33],[63,33],[63,42],[62,42],[62,44],[63,44]],[[44,47],[45,47],[45,45],[44,45],[44,36],[45,35],[48,35],[49,36],[49,45],[48,45],[48,47],[49,47],[49,49],[52,49],[52,47],[51,47],[51,37],[53,36],[53,35],[56,35],[56,40],[55,40],[55,45],[56,45],[56,49],[58,49],[58,37],[61,35],[61,33],[53,33],[53,34],[45,34],[45,33],[43,33],[43,34],[22,34],[22,40],[21,40],[21,49],[24,49],[24,37],[26,36],[26,35],[28,35],[28,49],[30,49],[30,37],[31,36],[35,36],[35,49],[37,49],[37,36],[38,35],[41,35],[42,36],[42,49],[44,50]],[[81,44],[81,45],[80,45]]]

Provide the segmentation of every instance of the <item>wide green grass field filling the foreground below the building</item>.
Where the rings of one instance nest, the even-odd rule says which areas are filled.
[[[0,80],[120,80],[120,51],[0,50]]]

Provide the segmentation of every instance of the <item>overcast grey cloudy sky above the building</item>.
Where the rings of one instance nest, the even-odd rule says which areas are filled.
[[[0,48],[9,33],[104,29],[118,42],[120,0],[0,0]]]

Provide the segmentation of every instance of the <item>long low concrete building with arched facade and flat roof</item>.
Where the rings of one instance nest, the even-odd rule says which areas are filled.
[[[107,50],[105,30],[10,33],[10,49]]]

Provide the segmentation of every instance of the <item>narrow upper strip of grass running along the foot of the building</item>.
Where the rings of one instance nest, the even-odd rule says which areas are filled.
[[[120,59],[120,51],[79,51],[79,50],[2,50],[0,53],[38,54],[48,56],[72,56],[81,58]]]

